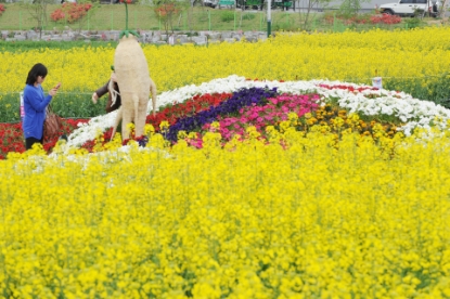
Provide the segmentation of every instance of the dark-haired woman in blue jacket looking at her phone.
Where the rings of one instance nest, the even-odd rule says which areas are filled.
[[[26,79],[24,89],[25,117],[22,122],[26,150],[31,148],[35,143],[42,144],[46,108],[60,87],[56,86],[50,90],[49,95],[44,96],[41,83],[46,79],[46,76],[47,67],[38,63],[31,67]]]

